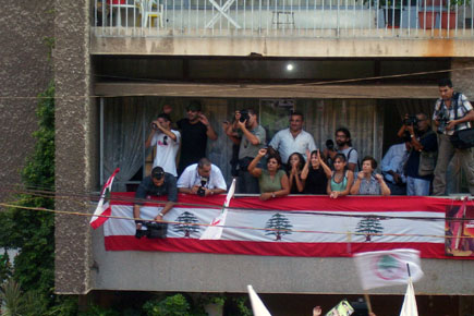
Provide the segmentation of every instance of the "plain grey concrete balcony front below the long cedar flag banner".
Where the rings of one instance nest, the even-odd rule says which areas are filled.
[[[352,258],[106,252],[102,229],[93,233],[93,244],[97,290],[245,292],[252,284],[259,293],[362,293]],[[422,267],[416,294],[474,295],[473,260],[424,259]],[[405,291],[400,285],[369,292]]]

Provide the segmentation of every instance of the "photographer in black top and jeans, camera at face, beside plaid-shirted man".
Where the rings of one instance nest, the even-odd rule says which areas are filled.
[[[429,195],[438,143],[428,117],[425,113],[405,114],[398,136],[411,139],[411,150],[405,163],[406,195]]]

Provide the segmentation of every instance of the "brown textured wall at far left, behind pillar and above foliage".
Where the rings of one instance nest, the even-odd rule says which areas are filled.
[[[20,170],[33,151],[36,96],[52,78],[45,37],[53,36],[52,0],[1,1],[0,19],[0,200],[21,182]],[[32,15],[40,19],[31,19]]]

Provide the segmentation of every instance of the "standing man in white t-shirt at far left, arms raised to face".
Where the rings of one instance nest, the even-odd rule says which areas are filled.
[[[160,166],[165,172],[178,177],[175,160],[180,148],[180,132],[171,130],[169,114],[161,113],[158,119],[151,122],[151,132],[145,142],[145,148],[156,146],[153,167]]]

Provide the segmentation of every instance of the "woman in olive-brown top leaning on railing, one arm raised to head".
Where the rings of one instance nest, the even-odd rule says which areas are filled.
[[[267,158],[267,169],[257,168],[258,161],[265,155]],[[258,150],[257,157],[248,165],[248,172],[258,178],[258,184],[260,187],[260,199],[267,200],[270,198],[285,196],[290,193],[290,183],[288,181],[287,173],[280,169],[281,158],[275,149],[262,148]]]

